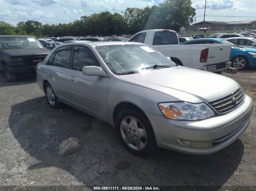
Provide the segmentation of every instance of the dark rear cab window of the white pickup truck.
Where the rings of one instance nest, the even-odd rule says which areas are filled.
[[[178,38],[174,32],[155,32],[152,45],[178,44]]]

